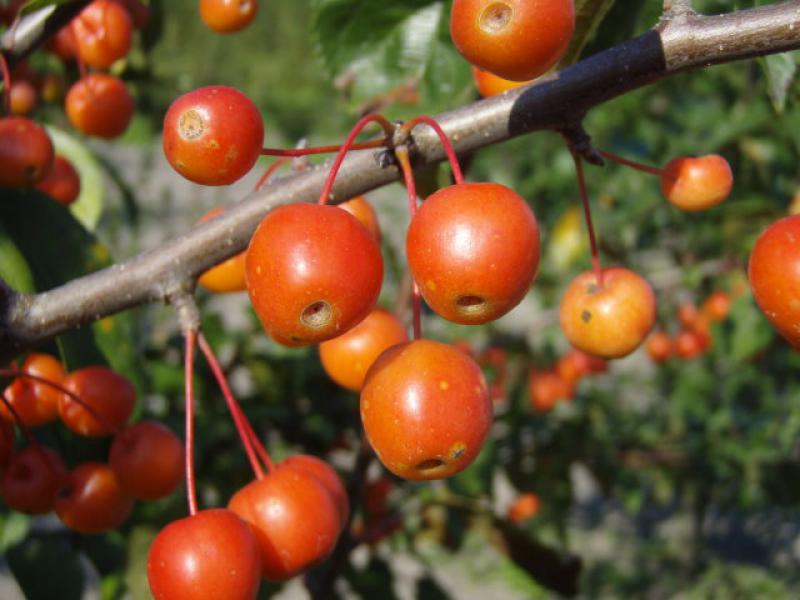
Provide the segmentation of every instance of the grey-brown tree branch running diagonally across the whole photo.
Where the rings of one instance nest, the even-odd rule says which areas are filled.
[[[533,131],[574,129],[592,107],[680,72],[797,48],[797,0],[714,17],[692,13],[664,19],[655,29],[530,86],[436,120],[456,151],[467,153]],[[413,138],[416,166],[445,158],[432,131],[421,128]],[[5,290],[0,302],[0,361],[104,316],[179,296],[187,281],[241,252],[271,208],[314,201],[326,176],[327,169],[318,167],[277,180],[177,239],[56,289],[35,295]],[[353,152],[342,166],[332,202],[400,177],[386,150]]]

